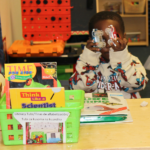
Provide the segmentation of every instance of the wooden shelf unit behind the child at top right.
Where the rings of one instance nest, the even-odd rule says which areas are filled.
[[[149,45],[148,36],[148,0],[146,0],[145,13],[144,14],[126,14],[124,12],[124,0],[96,0],[96,11],[100,12],[104,10],[104,4],[106,2],[120,2],[121,3],[121,16],[125,23],[126,32],[141,32],[139,42],[129,42],[130,46]]]

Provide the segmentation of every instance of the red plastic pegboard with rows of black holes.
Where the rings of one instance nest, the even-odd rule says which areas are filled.
[[[25,40],[66,41],[70,38],[70,0],[21,0],[21,11]]]

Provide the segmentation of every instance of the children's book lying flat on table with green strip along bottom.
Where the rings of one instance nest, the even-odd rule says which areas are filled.
[[[127,101],[122,93],[85,93],[81,124],[132,121]]]

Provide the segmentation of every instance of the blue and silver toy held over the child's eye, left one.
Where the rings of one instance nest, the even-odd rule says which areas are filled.
[[[106,43],[103,39],[104,32],[102,30],[93,29],[92,31],[92,40],[94,40],[94,43],[98,43],[97,47],[103,48],[106,46]]]

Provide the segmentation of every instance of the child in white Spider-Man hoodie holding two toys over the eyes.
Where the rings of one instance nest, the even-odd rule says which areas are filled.
[[[109,36],[104,32],[106,47],[95,47],[92,30],[103,30],[113,25],[119,38],[108,44]],[[120,15],[102,11],[89,22],[90,39],[77,60],[76,72],[69,79],[71,89],[81,89],[87,93],[121,92],[124,98],[140,98],[148,79],[139,59],[128,52],[124,23]]]

